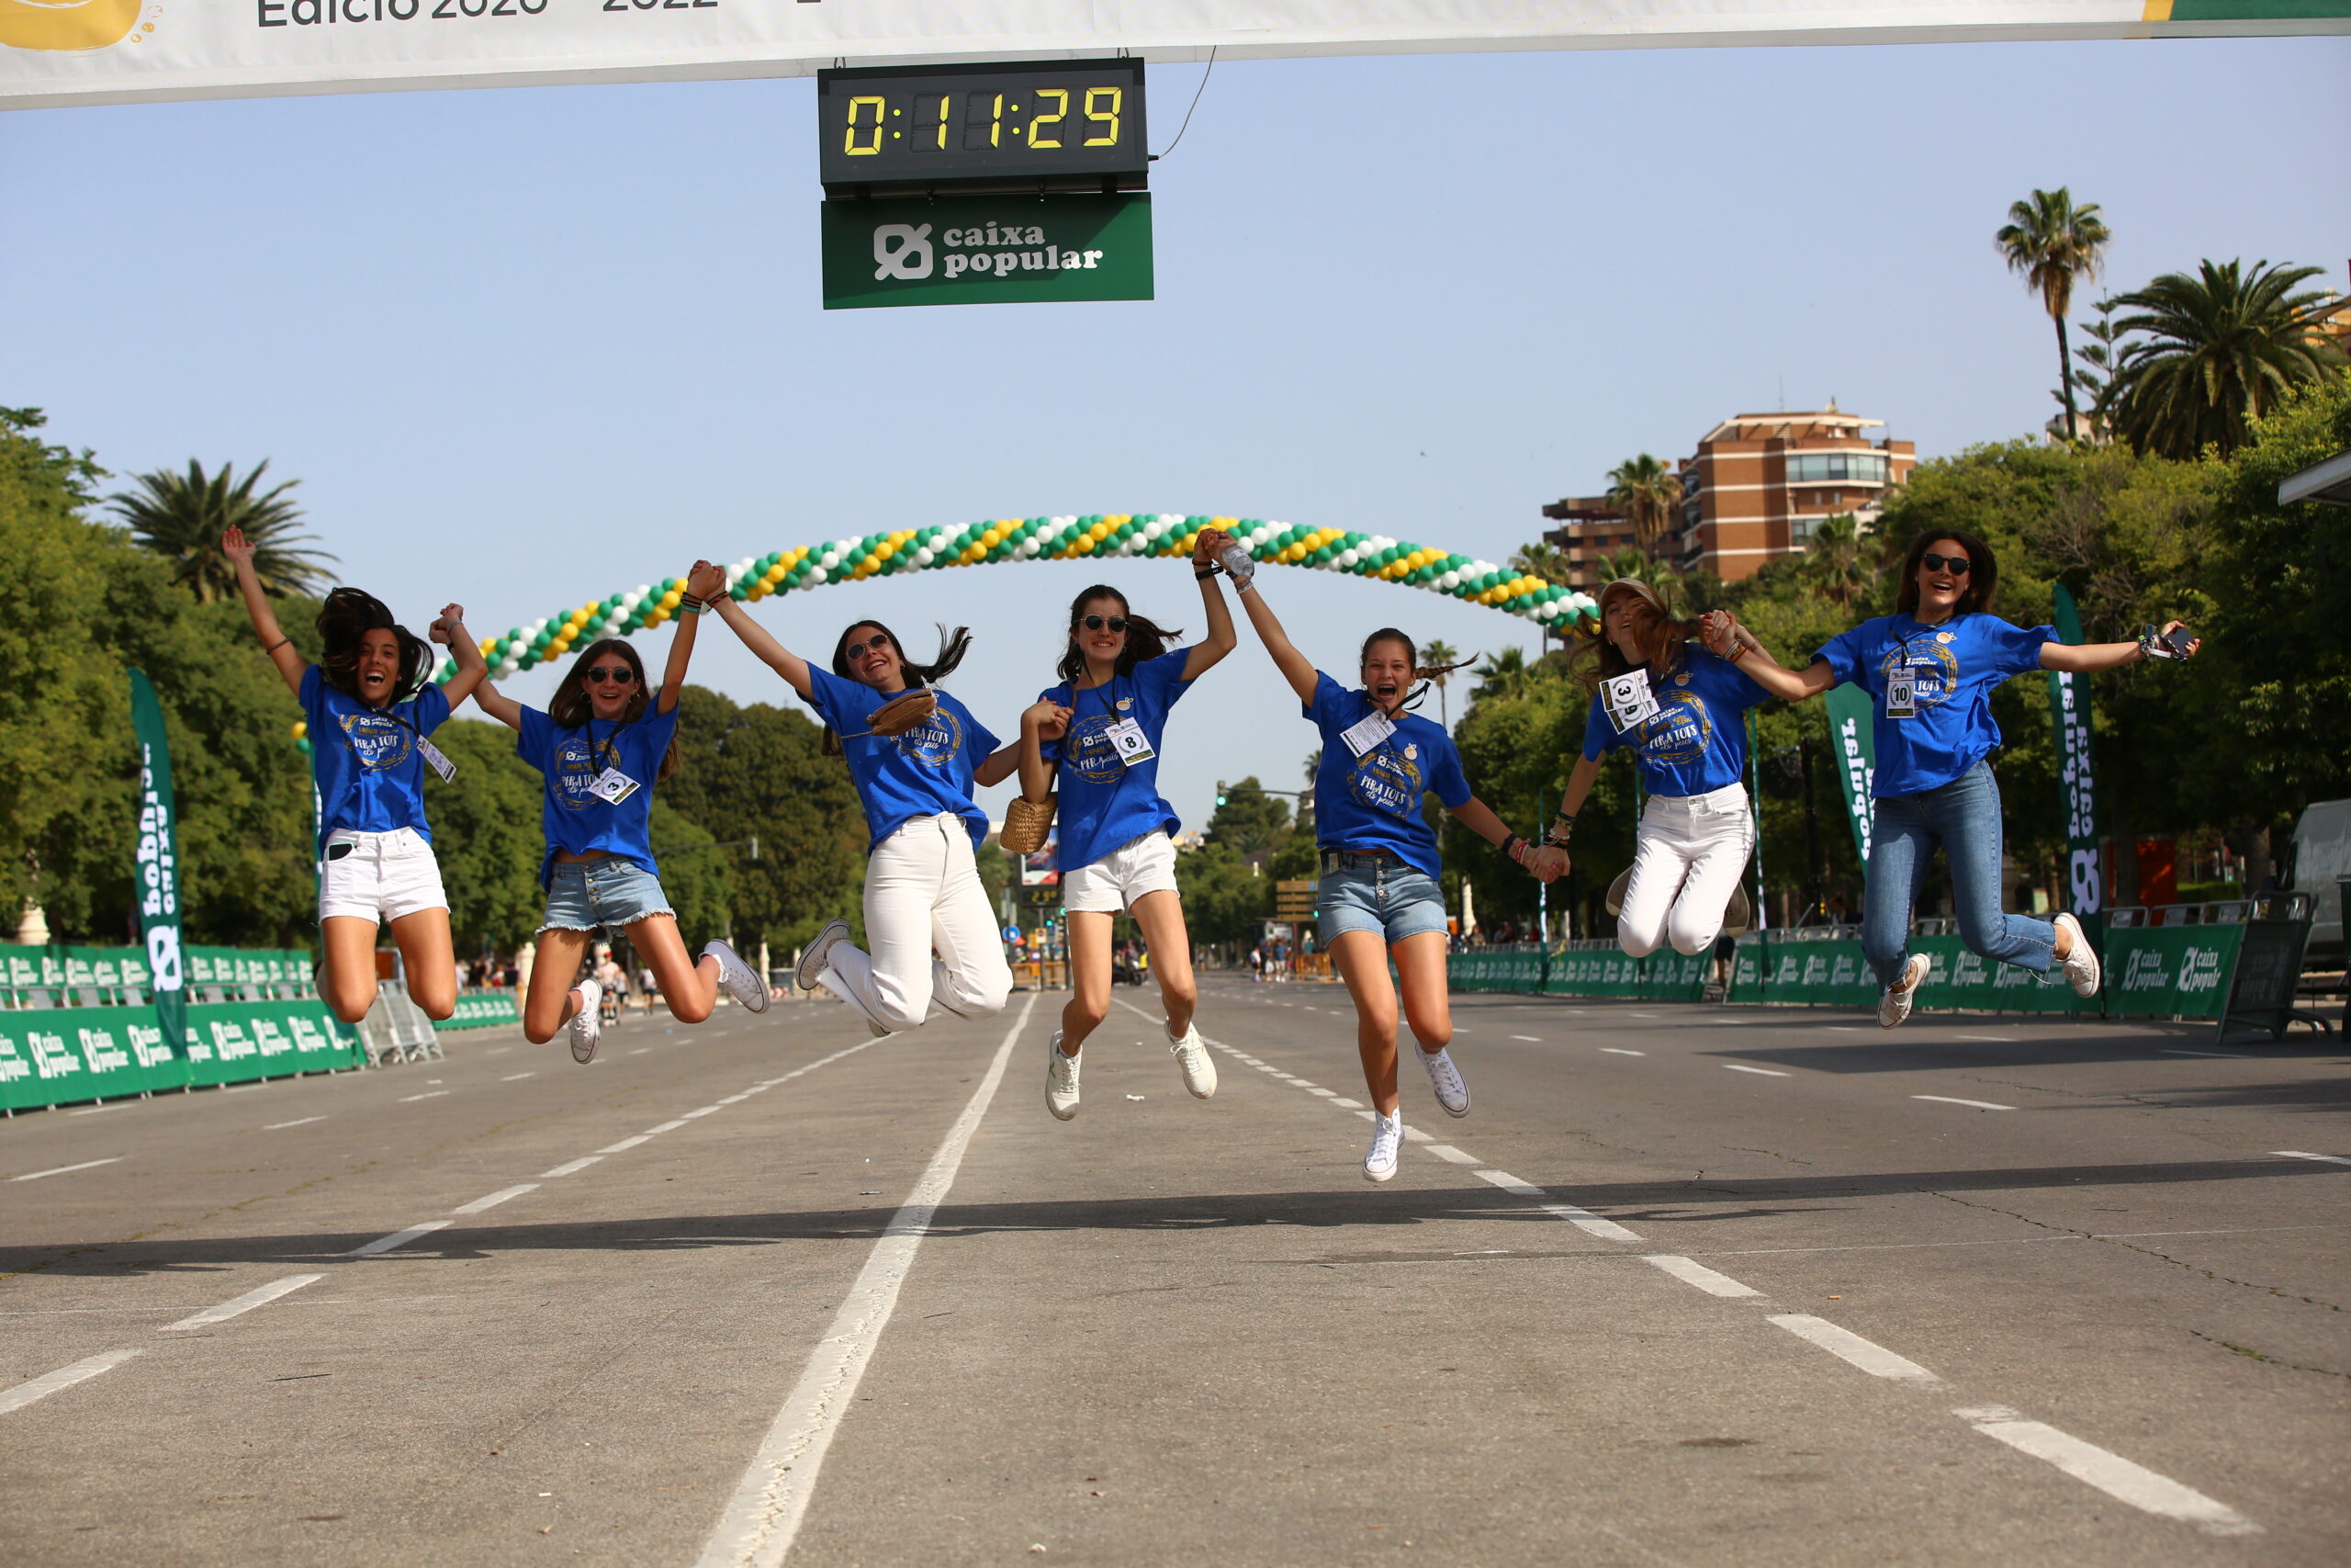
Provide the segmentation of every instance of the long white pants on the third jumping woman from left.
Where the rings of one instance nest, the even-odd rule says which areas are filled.
[[[1013,994],[1013,969],[971,860],[971,827],[959,816],[917,816],[875,844],[865,863],[865,940],[872,957],[837,943],[818,983],[891,1034],[922,1027],[933,1006],[987,1018]]]

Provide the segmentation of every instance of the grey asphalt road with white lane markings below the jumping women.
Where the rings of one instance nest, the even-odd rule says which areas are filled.
[[[2339,1051],[1152,1001],[0,1124],[0,1563],[2351,1561]]]

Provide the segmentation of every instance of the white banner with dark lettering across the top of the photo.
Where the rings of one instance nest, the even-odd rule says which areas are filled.
[[[2318,14],[2327,12],[2327,14]],[[0,108],[952,59],[2351,33],[2351,0],[0,0]]]

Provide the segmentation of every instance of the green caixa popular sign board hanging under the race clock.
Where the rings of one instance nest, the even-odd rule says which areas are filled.
[[[1152,197],[825,202],[825,310],[1152,299]]]

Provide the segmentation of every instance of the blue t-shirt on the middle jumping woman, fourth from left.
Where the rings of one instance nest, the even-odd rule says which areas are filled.
[[[1131,675],[1117,675],[1107,686],[1070,689],[1070,682],[1037,693],[1070,708],[1070,731],[1049,741],[1041,752],[1056,764],[1060,790],[1060,870],[1093,865],[1119,844],[1145,832],[1176,832],[1176,806],[1159,797],[1159,736],[1192,682],[1183,677],[1192,649],[1147,658]],[[1126,764],[1110,743],[1110,726],[1133,719],[1152,743],[1145,762]]]

